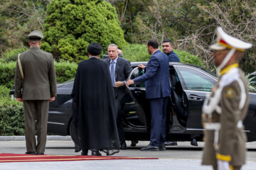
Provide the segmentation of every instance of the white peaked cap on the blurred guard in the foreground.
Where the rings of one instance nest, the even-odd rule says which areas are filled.
[[[226,48],[235,48],[238,51],[244,51],[252,47],[251,43],[244,42],[238,38],[234,38],[224,32],[223,28],[218,27],[216,29],[217,42],[210,45],[211,50],[225,50]]]

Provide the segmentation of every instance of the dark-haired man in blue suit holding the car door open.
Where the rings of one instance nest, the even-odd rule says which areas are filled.
[[[149,99],[151,108],[151,134],[150,143],[141,150],[159,151],[165,150],[166,137],[166,108],[171,88],[169,83],[169,62],[168,57],[159,50],[156,40],[149,40],[146,43],[147,50],[151,55],[146,68],[139,64],[139,67],[146,69],[141,77],[130,79],[130,84],[140,84],[146,81],[146,98]]]

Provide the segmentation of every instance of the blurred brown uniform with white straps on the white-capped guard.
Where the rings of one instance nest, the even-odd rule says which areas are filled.
[[[249,106],[246,84],[242,71],[231,66],[213,87],[209,101],[206,99],[206,104],[218,102],[212,113],[203,110],[202,121],[206,131],[202,164],[213,165],[214,169],[217,169],[217,159],[229,162],[233,169],[240,169],[245,164],[247,139],[242,131],[242,120]],[[219,98],[216,97],[218,92]]]

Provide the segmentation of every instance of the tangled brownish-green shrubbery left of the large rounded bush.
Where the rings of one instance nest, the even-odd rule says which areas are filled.
[[[43,29],[48,1],[0,1],[0,55],[10,48],[28,46],[26,35]]]

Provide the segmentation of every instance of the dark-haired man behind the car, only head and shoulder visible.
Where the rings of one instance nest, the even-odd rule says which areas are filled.
[[[164,40],[162,48],[163,52],[168,56],[169,62],[180,62],[178,55],[174,52],[174,45],[171,40]]]

